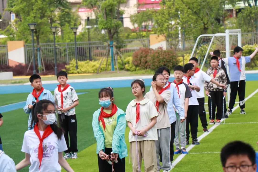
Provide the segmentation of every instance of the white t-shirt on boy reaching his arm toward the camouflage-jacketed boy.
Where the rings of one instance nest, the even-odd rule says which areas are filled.
[[[192,76],[192,78],[195,78],[197,80],[197,83],[200,87],[200,91],[196,92],[196,97],[203,98],[204,97],[204,81],[210,82],[212,78],[202,70],[199,70],[198,72],[196,72]]]

